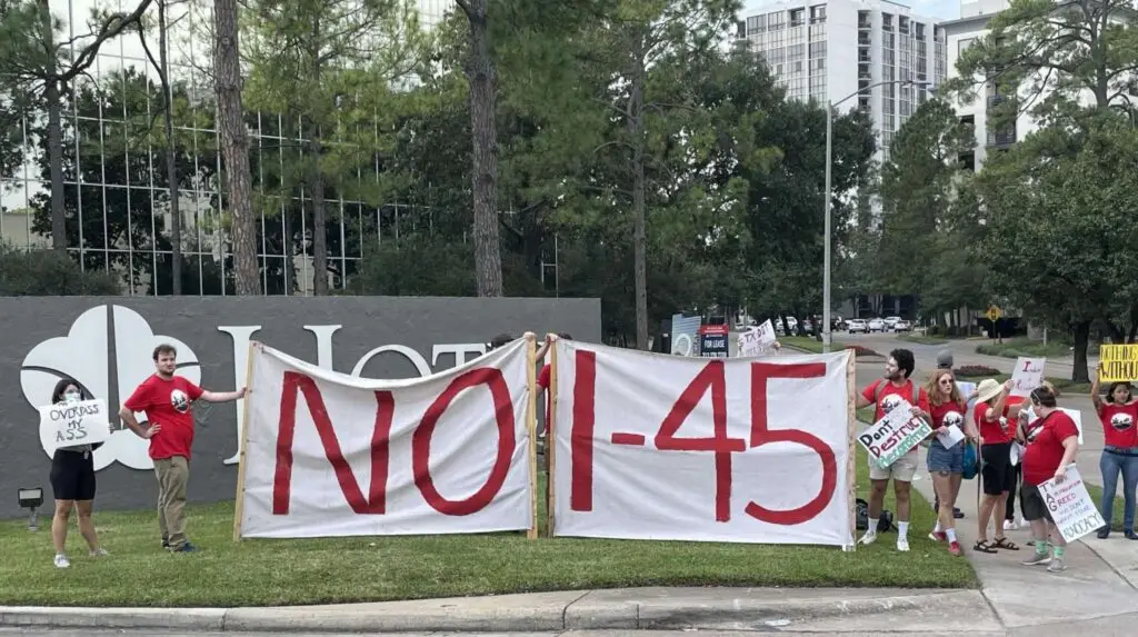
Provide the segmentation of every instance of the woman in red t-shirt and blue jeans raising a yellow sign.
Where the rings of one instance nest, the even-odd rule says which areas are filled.
[[[1125,508],[1122,514],[1122,529],[1130,539],[1138,539],[1135,532],[1135,500],[1138,499],[1138,400],[1129,382],[1112,382],[1103,397],[1099,392],[1098,379],[1103,374],[1103,364],[1098,364],[1098,373],[1090,384],[1090,399],[1095,403],[1095,412],[1103,423],[1103,455],[1098,458],[1098,468],[1103,471],[1103,502],[1099,512],[1103,514],[1103,528],[1098,530],[1099,539],[1111,535],[1111,521],[1114,513],[1114,490],[1122,474],[1122,498]]]

